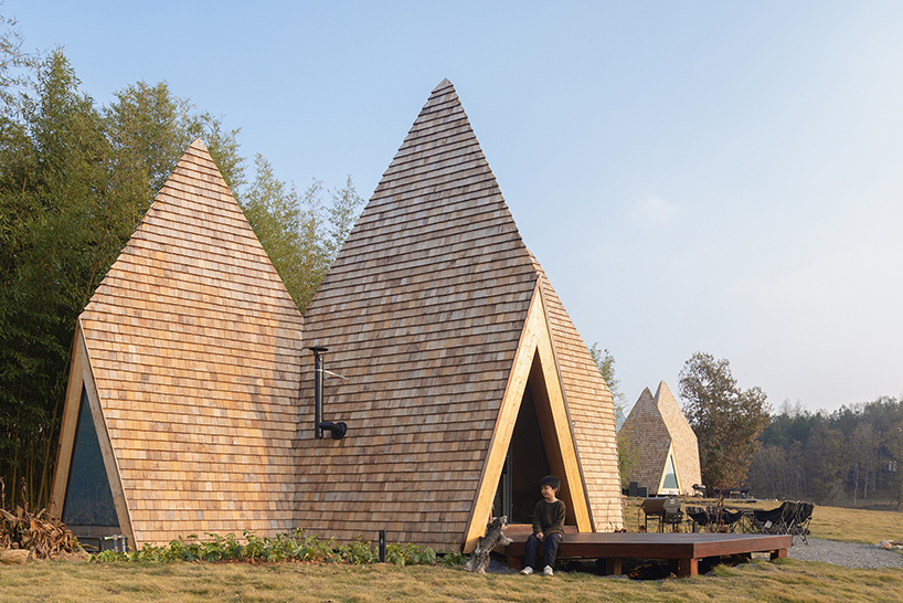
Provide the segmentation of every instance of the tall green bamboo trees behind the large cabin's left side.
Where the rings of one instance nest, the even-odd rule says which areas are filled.
[[[137,82],[98,105],[62,50],[26,53],[0,15],[0,478],[9,506],[46,506],[75,321],[180,157],[203,139],[304,311],[363,200],[351,177],[304,192],[240,129]]]

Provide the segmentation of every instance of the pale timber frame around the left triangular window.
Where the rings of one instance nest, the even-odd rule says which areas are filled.
[[[94,381],[94,373],[91,368],[91,355],[82,329],[82,318],[75,325],[75,338],[72,350],[72,367],[70,368],[68,384],[66,385],[66,404],[63,410],[63,425],[60,433],[60,446],[56,452],[56,468],[54,470],[53,487],[51,489],[50,512],[54,517],[62,517],[63,504],[66,498],[68,487],[70,468],[72,464],[73,444],[75,443],[75,430],[78,426],[78,412],[82,404],[82,390],[87,392],[91,416],[94,421],[94,430],[97,432],[97,441],[100,444],[100,454],[104,457],[104,468],[107,473],[113,505],[116,508],[116,518],[119,521],[119,530],[128,538],[129,546],[136,547],[135,531],[131,528],[131,514],[128,509],[123,480],[119,477],[119,464],[113,453],[113,445],[107,431],[107,423],[100,408],[100,396],[97,392],[97,384]]]

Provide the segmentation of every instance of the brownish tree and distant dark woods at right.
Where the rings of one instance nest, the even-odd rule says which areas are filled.
[[[759,498],[903,509],[903,400],[777,412],[759,388],[741,390],[726,359],[697,352],[680,372],[682,410],[699,440],[707,486]]]

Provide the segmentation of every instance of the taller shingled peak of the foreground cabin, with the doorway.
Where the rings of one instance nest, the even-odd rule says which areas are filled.
[[[328,347],[328,370],[348,378],[327,383],[323,419],[349,432],[315,440],[308,360],[298,525],[472,546],[529,385],[550,468],[565,474],[573,521],[591,529],[550,327],[560,303],[545,288],[444,81],[305,315],[306,346]]]

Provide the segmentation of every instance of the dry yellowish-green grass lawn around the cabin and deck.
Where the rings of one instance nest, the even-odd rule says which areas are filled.
[[[625,523],[636,529],[636,501]],[[774,504],[757,504],[772,508]],[[633,515],[631,515],[633,514]],[[812,535],[903,539],[903,514],[817,507]],[[460,568],[280,563],[29,562],[0,567],[0,602],[19,601],[900,601],[903,571],[782,559],[720,565],[713,575],[631,581],[570,572],[475,575]]]

